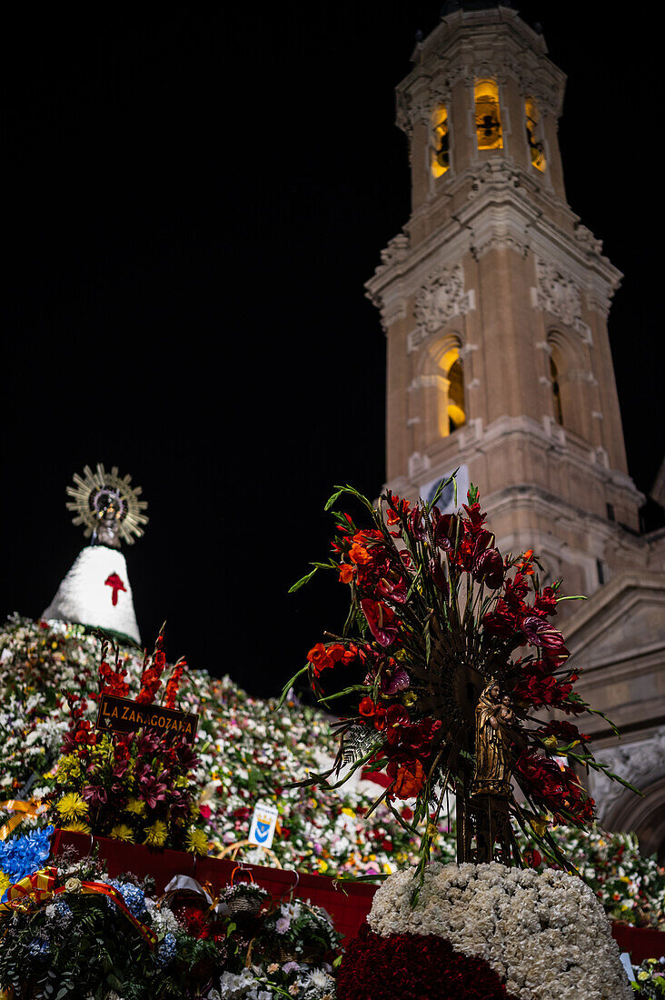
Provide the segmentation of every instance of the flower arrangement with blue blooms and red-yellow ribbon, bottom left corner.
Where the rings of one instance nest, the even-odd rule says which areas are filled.
[[[23,882],[0,912],[0,990],[12,1000],[194,1000],[219,985],[226,935],[193,932],[149,880],[110,879],[91,856]]]

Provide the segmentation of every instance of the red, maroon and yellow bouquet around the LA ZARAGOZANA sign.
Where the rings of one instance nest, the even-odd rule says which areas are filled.
[[[166,663],[162,642],[160,634],[154,653],[145,658],[139,704],[152,703],[161,684]],[[115,649],[114,667],[106,659],[109,648]],[[183,668],[182,662],[176,664],[166,685],[167,707],[175,705]],[[125,676],[118,648],[105,639],[100,694],[125,697]],[[100,732],[84,717],[85,697],[69,691],[66,700],[69,729],[44,797],[48,818],[64,830],[207,854],[194,782],[198,758],[184,737],[147,727],[135,733]]]

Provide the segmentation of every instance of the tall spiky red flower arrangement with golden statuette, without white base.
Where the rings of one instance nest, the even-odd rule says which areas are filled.
[[[385,800],[402,826],[422,829],[421,872],[451,800],[458,860],[519,861],[515,824],[570,867],[549,828],[593,823],[593,799],[574,768],[627,784],[560,717],[594,711],[574,691],[564,637],[549,621],[570,598],[560,581],[541,585],[533,551],[500,554],[476,487],[457,513],[440,514],[436,502],[450,481],[413,507],[387,492],[375,510],[351,487],[326,505],[350,495],[371,527],[334,511],[331,558],[292,588],[331,570],[350,588],[351,604],[341,634],[327,632],[309,651],[283,696],[307,673],[322,705],[344,697],[357,707],[338,724],[334,766],[301,784],[325,786],[341,775],[336,787],[358,768],[384,772],[386,787],[368,813]],[[335,668],[352,668],[357,679],[326,693],[326,671]],[[415,802],[409,822],[396,799]]]

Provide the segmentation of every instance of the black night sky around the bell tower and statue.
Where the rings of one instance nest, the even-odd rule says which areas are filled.
[[[326,556],[332,486],[375,497],[384,479],[384,338],[363,283],[408,218],[394,87],[439,8],[26,4],[6,21],[0,614],[51,600],[83,544],[65,487],[101,461],[149,502],[125,549],[144,642],[167,619],[169,658],[269,695],[340,626],[345,588],[287,590]],[[625,273],[610,334],[647,491],[660,36],[595,0],[519,10],[569,77],[569,203]]]

